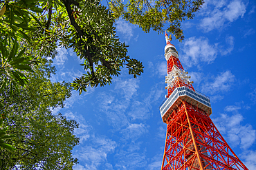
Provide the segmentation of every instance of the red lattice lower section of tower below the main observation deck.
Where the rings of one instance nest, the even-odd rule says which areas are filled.
[[[162,170],[247,169],[206,111],[186,98],[178,98],[174,105],[166,122]]]

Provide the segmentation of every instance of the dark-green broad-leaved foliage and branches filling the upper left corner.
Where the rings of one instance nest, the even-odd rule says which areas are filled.
[[[54,58],[57,45],[72,47],[84,59],[86,73],[72,84],[80,93],[88,86],[110,84],[124,65],[135,78],[143,72],[142,63],[127,56],[128,46],[116,36],[113,14],[98,0],[9,0],[1,4],[5,12],[0,16],[0,41],[12,40],[3,51],[27,47],[27,56],[31,54],[34,59]]]

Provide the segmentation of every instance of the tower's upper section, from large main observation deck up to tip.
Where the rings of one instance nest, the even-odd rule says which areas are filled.
[[[172,40],[172,38],[171,38]],[[165,59],[167,61],[167,76],[165,76],[165,83],[167,86],[167,96],[165,101],[160,107],[163,122],[167,123],[167,118],[172,114],[176,108],[179,99],[187,100],[188,103],[196,105],[203,109],[208,115],[212,114],[210,105],[210,98],[196,92],[190,81],[188,72],[185,72],[181,62],[179,61],[179,54],[176,47],[170,42],[170,38],[165,32]]]

